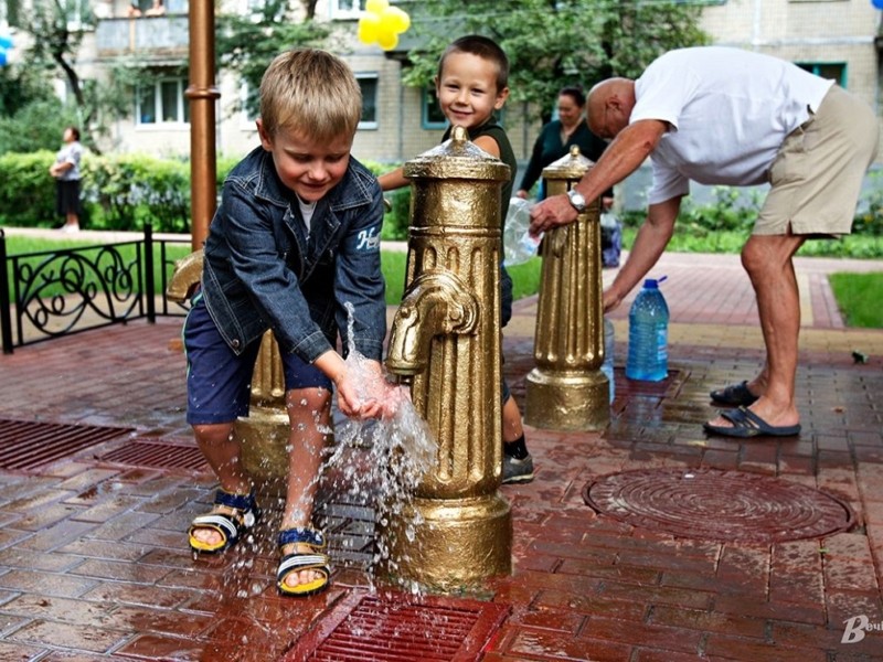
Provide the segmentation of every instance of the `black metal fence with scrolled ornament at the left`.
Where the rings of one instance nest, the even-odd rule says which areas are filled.
[[[129,320],[183,317],[187,307],[166,297],[172,244],[189,242],[155,239],[148,225],[139,241],[8,255],[0,229],[3,353]]]

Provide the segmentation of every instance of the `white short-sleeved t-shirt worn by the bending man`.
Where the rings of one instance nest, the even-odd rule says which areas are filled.
[[[769,55],[705,46],[670,51],[635,82],[629,124],[669,122],[650,156],[656,204],[702,184],[754,185],[786,136],[818,110],[832,81]]]

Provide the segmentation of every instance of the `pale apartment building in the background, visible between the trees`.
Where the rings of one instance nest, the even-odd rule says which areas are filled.
[[[132,98],[131,113],[111,127],[108,150],[146,151],[158,156],[185,154],[189,141],[188,0],[164,1],[158,15],[157,0],[134,0],[140,15],[132,15],[129,0],[92,2],[98,18],[78,52],[84,77],[103,75],[114,63],[127,62],[143,70]],[[224,0],[217,11],[247,13],[259,0]],[[318,20],[331,24],[336,51],[351,65],[362,85],[364,116],[353,152],[362,160],[406,160],[437,145],[445,128],[429,89],[401,84],[406,53],[365,46],[355,38],[365,0],[319,0]],[[701,0],[698,0],[701,1]],[[754,50],[792,61],[809,71],[832,77],[873,107],[880,96],[881,12],[871,0],[708,0],[703,28],[715,43]],[[405,40],[406,42],[406,40]],[[232,109],[245,90],[221,71],[216,111],[220,156],[238,157],[255,145],[254,118]],[[551,103],[551,102],[550,102]],[[526,109],[509,103],[504,124],[515,154],[526,160],[539,131]],[[883,150],[881,150],[883,154]]]

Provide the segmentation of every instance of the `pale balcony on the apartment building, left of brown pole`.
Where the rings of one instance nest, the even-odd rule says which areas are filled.
[[[188,15],[104,19],[95,30],[98,57],[136,55],[153,62],[181,62],[188,57]]]

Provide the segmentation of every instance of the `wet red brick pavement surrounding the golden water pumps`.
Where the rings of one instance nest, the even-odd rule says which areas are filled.
[[[747,278],[736,256],[663,256],[669,378],[624,377],[627,302],[610,425],[528,426],[536,478],[501,488],[512,576],[423,599],[369,572],[366,494],[321,492],[319,596],[276,592],[269,495],[253,544],[193,560],[215,485],[184,423],[180,319],[18,348],[0,356],[0,660],[883,660],[883,331],[844,328],[826,274],[848,269],[883,263],[798,259],[802,434],[740,441],[701,424],[709,391],[762,361]],[[535,307],[504,335],[522,403]]]

